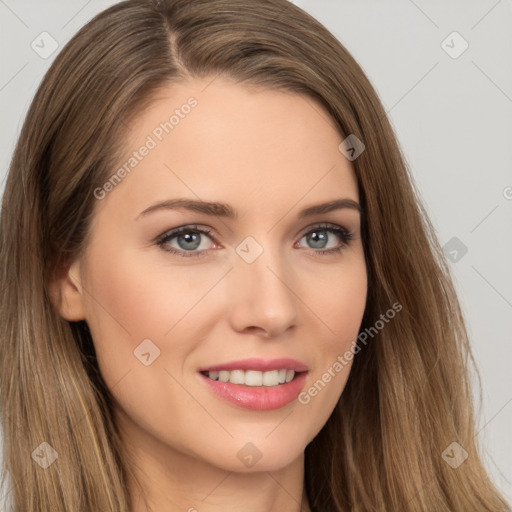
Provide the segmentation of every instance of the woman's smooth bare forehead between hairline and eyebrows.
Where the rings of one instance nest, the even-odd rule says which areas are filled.
[[[307,96],[220,77],[172,84],[132,120],[119,162],[126,178],[112,196],[137,207],[178,195],[222,200],[242,213],[254,200],[260,214],[276,201],[357,200],[341,141]]]

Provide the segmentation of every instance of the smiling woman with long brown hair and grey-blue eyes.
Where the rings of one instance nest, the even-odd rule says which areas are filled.
[[[0,240],[16,510],[506,510],[385,112],[292,4],[93,19],[34,98]]]

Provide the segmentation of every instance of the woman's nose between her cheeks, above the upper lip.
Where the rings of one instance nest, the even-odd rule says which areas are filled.
[[[236,257],[227,277],[230,323],[237,332],[277,337],[297,322],[294,276],[277,251],[265,249],[252,263]]]

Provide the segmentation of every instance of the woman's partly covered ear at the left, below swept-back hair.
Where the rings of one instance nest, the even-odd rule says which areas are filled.
[[[80,260],[77,259],[65,268],[61,268],[49,286],[55,308],[70,322],[85,320],[80,270]]]

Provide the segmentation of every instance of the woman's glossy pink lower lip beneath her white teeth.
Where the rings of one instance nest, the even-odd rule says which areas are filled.
[[[295,374],[290,382],[272,387],[232,384],[212,380],[202,373],[199,375],[206,385],[224,400],[244,409],[268,411],[284,407],[295,400],[304,387],[307,372]]]

